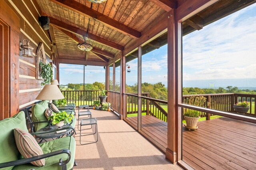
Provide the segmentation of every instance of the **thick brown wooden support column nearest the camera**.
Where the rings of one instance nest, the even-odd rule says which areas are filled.
[[[166,158],[175,163],[182,154],[182,23],[175,20],[176,10],[168,15],[168,131]]]

